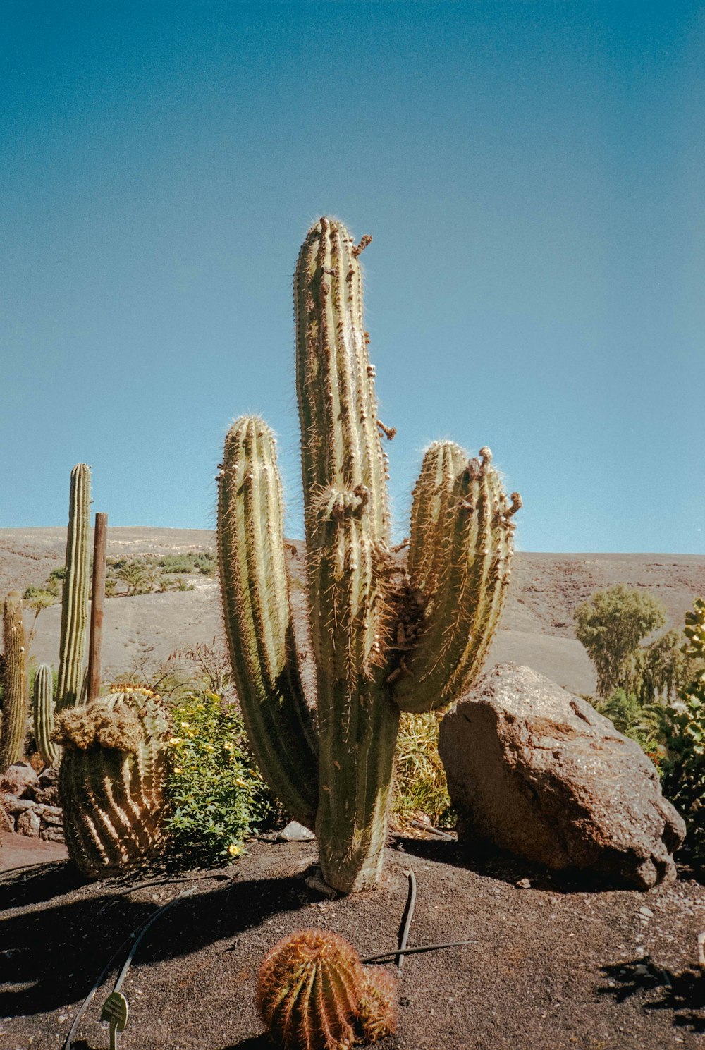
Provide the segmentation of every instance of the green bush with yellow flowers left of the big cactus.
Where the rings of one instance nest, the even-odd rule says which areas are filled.
[[[172,708],[168,820],[172,850],[199,863],[227,863],[254,830],[280,817],[248,753],[235,704],[191,694]]]

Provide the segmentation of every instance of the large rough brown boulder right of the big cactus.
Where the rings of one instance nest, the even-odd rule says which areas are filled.
[[[501,664],[441,723],[462,840],[646,889],[674,878],[685,824],[641,748],[585,700]]]

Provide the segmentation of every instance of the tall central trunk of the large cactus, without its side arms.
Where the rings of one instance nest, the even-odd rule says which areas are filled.
[[[294,278],[318,679],[316,834],[323,878],[343,891],[370,885],[379,875],[399,724],[380,666],[380,563],[389,521],[358,254],[345,227],[322,218],[304,240]]]

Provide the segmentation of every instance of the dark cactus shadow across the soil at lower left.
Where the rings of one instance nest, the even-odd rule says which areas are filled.
[[[176,889],[169,896],[175,897]],[[184,897],[145,937],[132,970],[189,956],[305,903],[301,880],[294,876],[229,880],[227,886],[218,884],[210,891]],[[0,918],[4,949],[0,952],[0,1016],[78,1006],[112,953],[155,906],[125,894],[101,892]],[[115,968],[126,954],[127,949]],[[61,966],[57,966],[58,959],[64,960]]]

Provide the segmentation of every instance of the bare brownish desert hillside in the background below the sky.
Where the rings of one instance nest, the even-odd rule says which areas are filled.
[[[0,530],[0,593],[42,584],[63,564],[64,528]],[[294,601],[303,591],[303,543],[293,541]],[[173,554],[215,549],[207,529],[118,527],[108,529],[109,556]],[[158,666],[175,649],[221,639],[218,585],[191,576],[194,589],[164,594],[115,596],[106,602],[103,664],[105,677],[141,665]],[[663,602],[670,623],[682,626],[696,597],[705,596],[705,556],[698,554],[550,554],[518,552],[501,630],[486,667],[514,660],[527,664],[577,693],[594,691],[595,677],[573,634],[573,611],[596,591],[614,584],[643,587]],[[46,609],[37,621],[31,655],[57,665],[61,609]],[[31,626],[27,612],[25,624]]]

